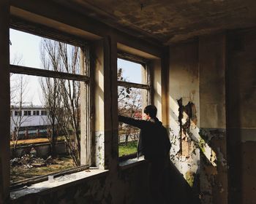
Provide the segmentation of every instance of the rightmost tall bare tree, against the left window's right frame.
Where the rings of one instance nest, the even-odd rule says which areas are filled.
[[[79,48],[59,43],[59,52],[62,70],[78,74]],[[61,127],[63,127],[72,160],[75,165],[80,165],[80,82],[61,79],[61,95],[64,105],[64,115],[60,118],[63,120]]]

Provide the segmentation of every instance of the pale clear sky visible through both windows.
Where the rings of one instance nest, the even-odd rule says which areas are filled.
[[[42,68],[40,60],[40,43],[41,37],[27,34],[21,31],[10,29],[10,63],[29,66],[34,68]],[[123,69],[124,78],[127,82],[141,83],[141,66],[138,63],[132,63],[127,60],[118,59],[118,68]],[[18,76],[20,74],[12,74],[10,79],[11,87],[18,84]],[[39,77],[24,76],[26,79],[26,95],[24,102],[34,106],[42,106],[42,91],[39,85]],[[16,100],[18,100],[16,98]],[[13,99],[15,102],[15,99]],[[16,101],[17,102],[17,101]]]

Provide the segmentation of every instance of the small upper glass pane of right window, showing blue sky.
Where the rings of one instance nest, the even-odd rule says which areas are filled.
[[[128,60],[117,60],[118,81],[147,84],[146,68],[140,63],[133,63]]]

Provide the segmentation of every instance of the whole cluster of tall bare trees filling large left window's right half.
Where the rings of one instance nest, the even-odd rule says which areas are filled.
[[[42,40],[41,58],[45,69],[78,74],[79,48]],[[65,79],[45,79],[41,82],[48,109],[52,142],[56,141],[54,128],[64,134],[69,154],[75,165],[80,165],[80,82]]]

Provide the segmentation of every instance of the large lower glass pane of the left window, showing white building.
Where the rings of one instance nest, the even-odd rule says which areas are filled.
[[[10,76],[11,182],[80,165],[83,82]]]

